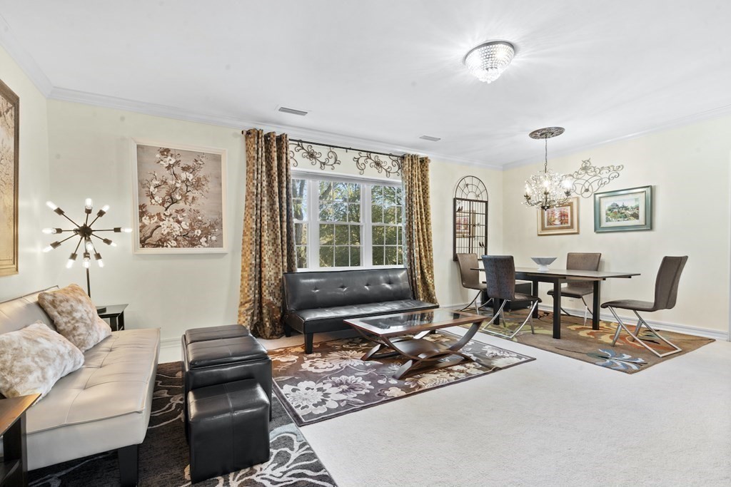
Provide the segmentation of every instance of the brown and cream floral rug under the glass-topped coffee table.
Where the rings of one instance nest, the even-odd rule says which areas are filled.
[[[441,331],[429,334],[425,339],[449,343],[456,342],[459,337]],[[535,360],[473,340],[461,351],[479,359],[484,366],[468,362],[396,380],[393,375],[406,358],[360,360],[373,346],[373,343],[357,337],[315,343],[313,353],[308,355],[302,346],[269,350],[274,391],[298,425],[336,418]],[[455,358],[458,357],[451,356],[446,360]]]

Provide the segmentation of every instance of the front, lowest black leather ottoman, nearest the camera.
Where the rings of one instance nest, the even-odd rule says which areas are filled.
[[[197,388],[187,398],[192,483],[269,460],[269,399],[256,380]]]

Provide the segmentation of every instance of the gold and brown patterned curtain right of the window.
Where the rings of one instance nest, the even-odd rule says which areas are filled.
[[[429,158],[404,156],[401,167],[406,212],[406,266],[416,299],[435,303],[434,253],[429,207]]]

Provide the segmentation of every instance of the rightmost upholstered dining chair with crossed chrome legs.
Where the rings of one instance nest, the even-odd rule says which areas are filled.
[[[640,342],[640,345],[650,350],[656,356],[667,357],[669,355],[673,355],[673,353],[678,353],[682,351],[682,349],[678,347],[678,345],[675,345],[669,340],[663,338],[662,335],[656,331],[656,329],[650,326],[647,321],[643,320],[638,311],[653,312],[659,310],[671,310],[673,309],[673,307],[675,307],[675,300],[678,298],[678,283],[680,283],[681,273],[683,272],[683,267],[685,267],[687,260],[688,256],[665,256],[662,258],[662,263],[660,264],[660,269],[657,271],[657,278],[655,280],[655,299],[653,302],[637,301],[635,299],[618,299],[616,301],[602,303],[602,307],[609,308],[618,323],[617,331],[614,334],[614,340],[612,341],[612,346],[616,344],[620,332],[624,329],[624,331],[626,331],[629,336],[632,337],[632,340],[637,340],[637,342]],[[635,326],[634,333],[630,331],[630,329],[627,328],[621,318],[619,318],[617,312],[615,311],[615,308],[618,308],[620,310],[631,310],[635,312],[638,321],[637,326]],[[659,353],[658,351],[651,348],[650,345],[645,343],[645,340],[640,338],[640,328],[642,328],[643,325],[645,325],[647,329],[650,330],[652,334],[654,334],[654,336],[667,343],[667,345],[670,345],[673,350],[671,350],[670,352]]]

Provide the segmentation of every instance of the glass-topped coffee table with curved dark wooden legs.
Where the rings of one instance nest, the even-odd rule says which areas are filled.
[[[392,356],[406,358],[406,362],[393,375],[393,378],[401,379],[466,362],[481,364],[479,360],[460,350],[474,337],[474,334],[480,329],[482,321],[485,321],[484,316],[437,308],[436,310],[349,319],[345,320],[345,323],[352,326],[366,340],[376,344],[361,357],[361,360]],[[425,338],[427,334],[433,333],[437,329],[469,323],[472,323],[472,326],[466,334],[450,346]],[[444,360],[450,356],[458,358]]]

